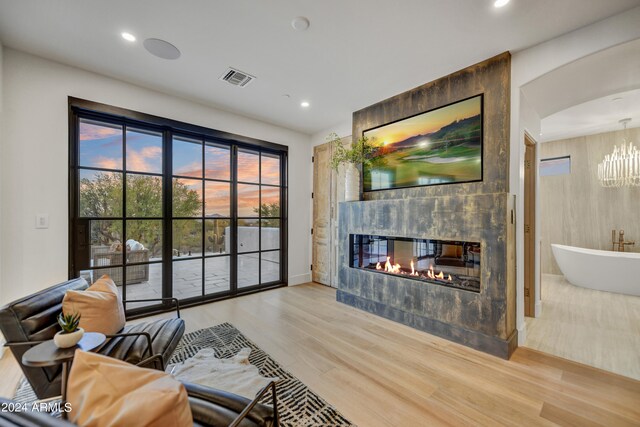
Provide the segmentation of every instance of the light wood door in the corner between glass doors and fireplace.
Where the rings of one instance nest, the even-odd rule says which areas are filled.
[[[313,229],[311,280],[331,286],[332,282],[332,189],[331,144],[313,148]]]

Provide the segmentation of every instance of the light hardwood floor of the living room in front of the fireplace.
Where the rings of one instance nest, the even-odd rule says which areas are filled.
[[[498,359],[339,304],[321,285],[183,317],[189,331],[232,323],[360,426],[640,424],[638,381],[526,348]],[[10,362],[2,361],[5,396],[17,378]]]

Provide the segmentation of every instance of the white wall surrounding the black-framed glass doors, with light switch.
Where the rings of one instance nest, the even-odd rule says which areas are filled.
[[[67,279],[67,97],[289,146],[289,283],[310,280],[308,135],[5,48],[0,302]],[[35,215],[50,226],[35,229]]]

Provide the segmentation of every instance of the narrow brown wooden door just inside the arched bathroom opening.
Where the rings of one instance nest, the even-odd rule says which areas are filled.
[[[536,143],[525,135],[524,152],[524,315],[535,317]]]

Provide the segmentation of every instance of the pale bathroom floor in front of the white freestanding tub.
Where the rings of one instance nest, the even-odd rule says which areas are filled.
[[[640,380],[640,297],[580,288],[542,275],[542,313],[527,347]]]

